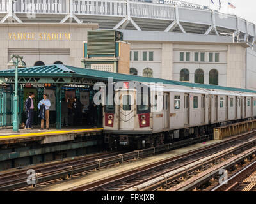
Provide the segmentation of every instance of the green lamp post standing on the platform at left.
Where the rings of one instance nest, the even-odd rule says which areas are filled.
[[[26,64],[22,61],[23,57],[19,55],[12,55],[12,59],[7,66],[15,66],[15,95],[13,98],[13,132],[19,132],[19,115],[18,115],[18,68],[25,68]],[[20,59],[20,61],[19,61]]]

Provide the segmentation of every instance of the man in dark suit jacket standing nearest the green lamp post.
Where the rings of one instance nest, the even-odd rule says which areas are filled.
[[[35,94],[33,92],[29,92],[29,96],[25,101],[25,111],[27,112],[25,129],[32,128],[33,116],[34,116],[34,102],[33,102],[34,97],[35,97]]]

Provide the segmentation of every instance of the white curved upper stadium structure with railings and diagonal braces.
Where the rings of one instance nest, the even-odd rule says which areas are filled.
[[[255,44],[256,27],[236,15],[172,0],[0,0],[0,22],[98,23],[126,29],[221,35]]]

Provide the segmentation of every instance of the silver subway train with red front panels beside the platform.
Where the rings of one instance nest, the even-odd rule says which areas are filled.
[[[211,85],[114,84],[113,93],[106,96],[103,114],[104,140],[109,147],[143,149],[212,134],[214,127],[256,117],[256,94],[246,89],[241,92]]]

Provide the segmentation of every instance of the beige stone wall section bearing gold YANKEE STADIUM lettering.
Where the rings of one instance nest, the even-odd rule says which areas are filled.
[[[81,66],[87,31],[98,24],[0,24],[0,69],[7,69],[12,54],[22,55],[26,66],[71,64]]]

